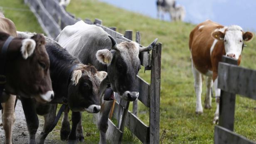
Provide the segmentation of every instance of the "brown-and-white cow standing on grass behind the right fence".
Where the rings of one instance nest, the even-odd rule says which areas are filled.
[[[240,64],[244,41],[250,41],[253,37],[254,35],[251,32],[244,32],[237,25],[225,27],[211,20],[198,24],[190,33],[189,48],[192,58],[194,89],[197,96],[196,113],[203,113],[201,93],[202,75],[204,75],[207,76],[207,94],[204,101],[204,108],[206,109],[212,107],[211,88],[214,82],[217,103],[214,124],[218,123],[219,120],[218,63],[222,60],[222,55],[226,55],[238,60],[238,64]]]

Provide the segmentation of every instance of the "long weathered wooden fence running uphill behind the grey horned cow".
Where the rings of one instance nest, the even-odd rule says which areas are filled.
[[[56,0],[25,0],[25,3],[30,5],[30,9],[36,15],[47,36],[53,39],[58,36],[65,26],[81,20],[72,17],[63,7],[59,6]],[[116,27],[103,26],[101,20],[95,19],[95,22],[91,22],[89,19],[85,19],[84,22],[102,27],[117,43],[132,41],[133,32],[130,30],[126,30],[123,35],[116,32]],[[135,41],[140,44],[140,32],[136,32]],[[159,143],[161,51],[162,44],[159,43],[153,48],[151,54],[150,52],[142,52],[139,56],[141,65],[145,67],[145,70],[151,70],[151,83],[147,83],[140,76],[137,76],[140,93],[138,100],[150,109],[149,126],[137,117],[137,101],[133,102],[133,112],[130,112],[128,111],[130,102],[117,99],[113,109],[113,118],[117,120],[117,126],[108,119],[107,139],[111,143],[121,143],[124,127],[127,127],[145,144]]]

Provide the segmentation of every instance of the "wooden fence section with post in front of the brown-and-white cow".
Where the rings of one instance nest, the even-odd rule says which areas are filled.
[[[236,94],[256,100],[255,84],[255,70],[239,67],[236,60],[222,57],[218,70],[219,125],[214,129],[214,144],[256,144],[233,132]]]

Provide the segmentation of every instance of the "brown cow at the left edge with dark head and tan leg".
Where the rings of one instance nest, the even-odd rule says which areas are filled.
[[[39,102],[45,103],[52,100],[54,94],[44,37],[36,34],[30,39],[18,38],[15,24],[0,12],[0,53],[2,53],[5,41],[10,36],[14,38],[7,46],[6,63],[1,65],[1,70],[5,70],[6,81],[0,81],[1,84],[4,84],[1,87],[5,88],[3,93],[0,92],[1,102],[5,102],[2,112],[5,144],[12,144],[15,95],[31,96]],[[1,63],[2,58],[0,56]]]

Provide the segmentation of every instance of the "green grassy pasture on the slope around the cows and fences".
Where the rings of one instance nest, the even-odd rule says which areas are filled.
[[[5,16],[15,22],[18,31],[41,32],[36,18],[23,0],[1,0],[2,7],[21,8],[23,11],[4,8]],[[96,0],[71,0],[67,11],[76,17],[99,18],[103,25],[117,27],[124,34],[126,29],[141,32],[142,45],[148,45],[158,38],[162,45],[162,75],[160,93],[160,138],[166,143],[202,143],[212,144],[214,124],[212,124],[216,104],[212,99],[212,109],[204,110],[202,115],[195,114],[195,93],[191,71],[189,34],[194,24],[184,22],[163,22],[137,13],[128,12]],[[135,34],[133,33],[133,39]],[[256,38],[254,38],[242,54],[241,66],[256,69]],[[140,70],[141,77],[150,79],[150,73]],[[203,84],[202,101],[205,96]],[[131,105],[130,105],[131,106]],[[83,113],[83,126],[86,143],[97,143],[99,132],[93,124],[91,114]],[[148,109],[139,105],[138,117],[148,124]],[[256,140],[256,102],[237,97],[235,113],[235,132]],[[56,129],[58,129],[56,131]],[[59,139],[60,121],[51,134]],[[129,132],[123,137],[124,142],[139,143]]]

